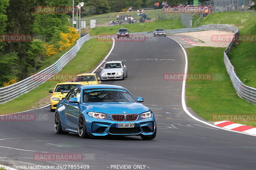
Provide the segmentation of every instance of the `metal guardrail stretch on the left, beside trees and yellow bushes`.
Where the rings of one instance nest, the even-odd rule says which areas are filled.
[[[62,55],[59,60],[57,60],[51,66],[15,84],[0,88],[0,104],[13,100],[50,79],[54,74],[58,73],[73,57],[76,56],[76,53],[82,47],[84,42],[88,41],[89,39],[90,35],[87,33],[82,38],[77,40],[76,45]]]

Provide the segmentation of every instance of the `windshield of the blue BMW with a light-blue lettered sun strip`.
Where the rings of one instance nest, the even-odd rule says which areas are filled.
[[[104,88],[86,89],[83,92],[84,102],[136,102],[125,89]]]

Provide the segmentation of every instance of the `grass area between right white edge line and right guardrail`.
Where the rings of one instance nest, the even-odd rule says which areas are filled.
[[[187,81],[186,99],[197,115],[212,121],[213,114],[255,115],[256,106],[237,96],[223,63],[225,48],[194,47],[188,53],[188,73],[220,73],[224,80]],[[200,53],[198,53],[200,51]],[[207,54],[207,55],[205,55]],[[222,120],[220,120],[222,121]],[[256,121],[233,121],[255,127]]]

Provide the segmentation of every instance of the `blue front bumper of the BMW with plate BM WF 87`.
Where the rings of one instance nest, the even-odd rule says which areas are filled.
[[[131,136],[131,135],[153,135],[155,132],[156,121],[154,116],[146,119],[141,119],[137,121],[124,121],[115,122],[112,120],[99,120],[96,118],[86,119],[86,129],[87,133],[91,136],[106,136],[106,135],[121,135],[121,136]],[[133,128],[116,128],[116,123],[134,123]]]

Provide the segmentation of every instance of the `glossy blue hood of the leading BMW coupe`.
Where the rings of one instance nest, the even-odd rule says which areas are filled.
[[[141,103],[131,102],[96,102],[90,103],[89,106],[94,112],[109,113],[109,114],[133,114],[149,111],[148,107]]]

